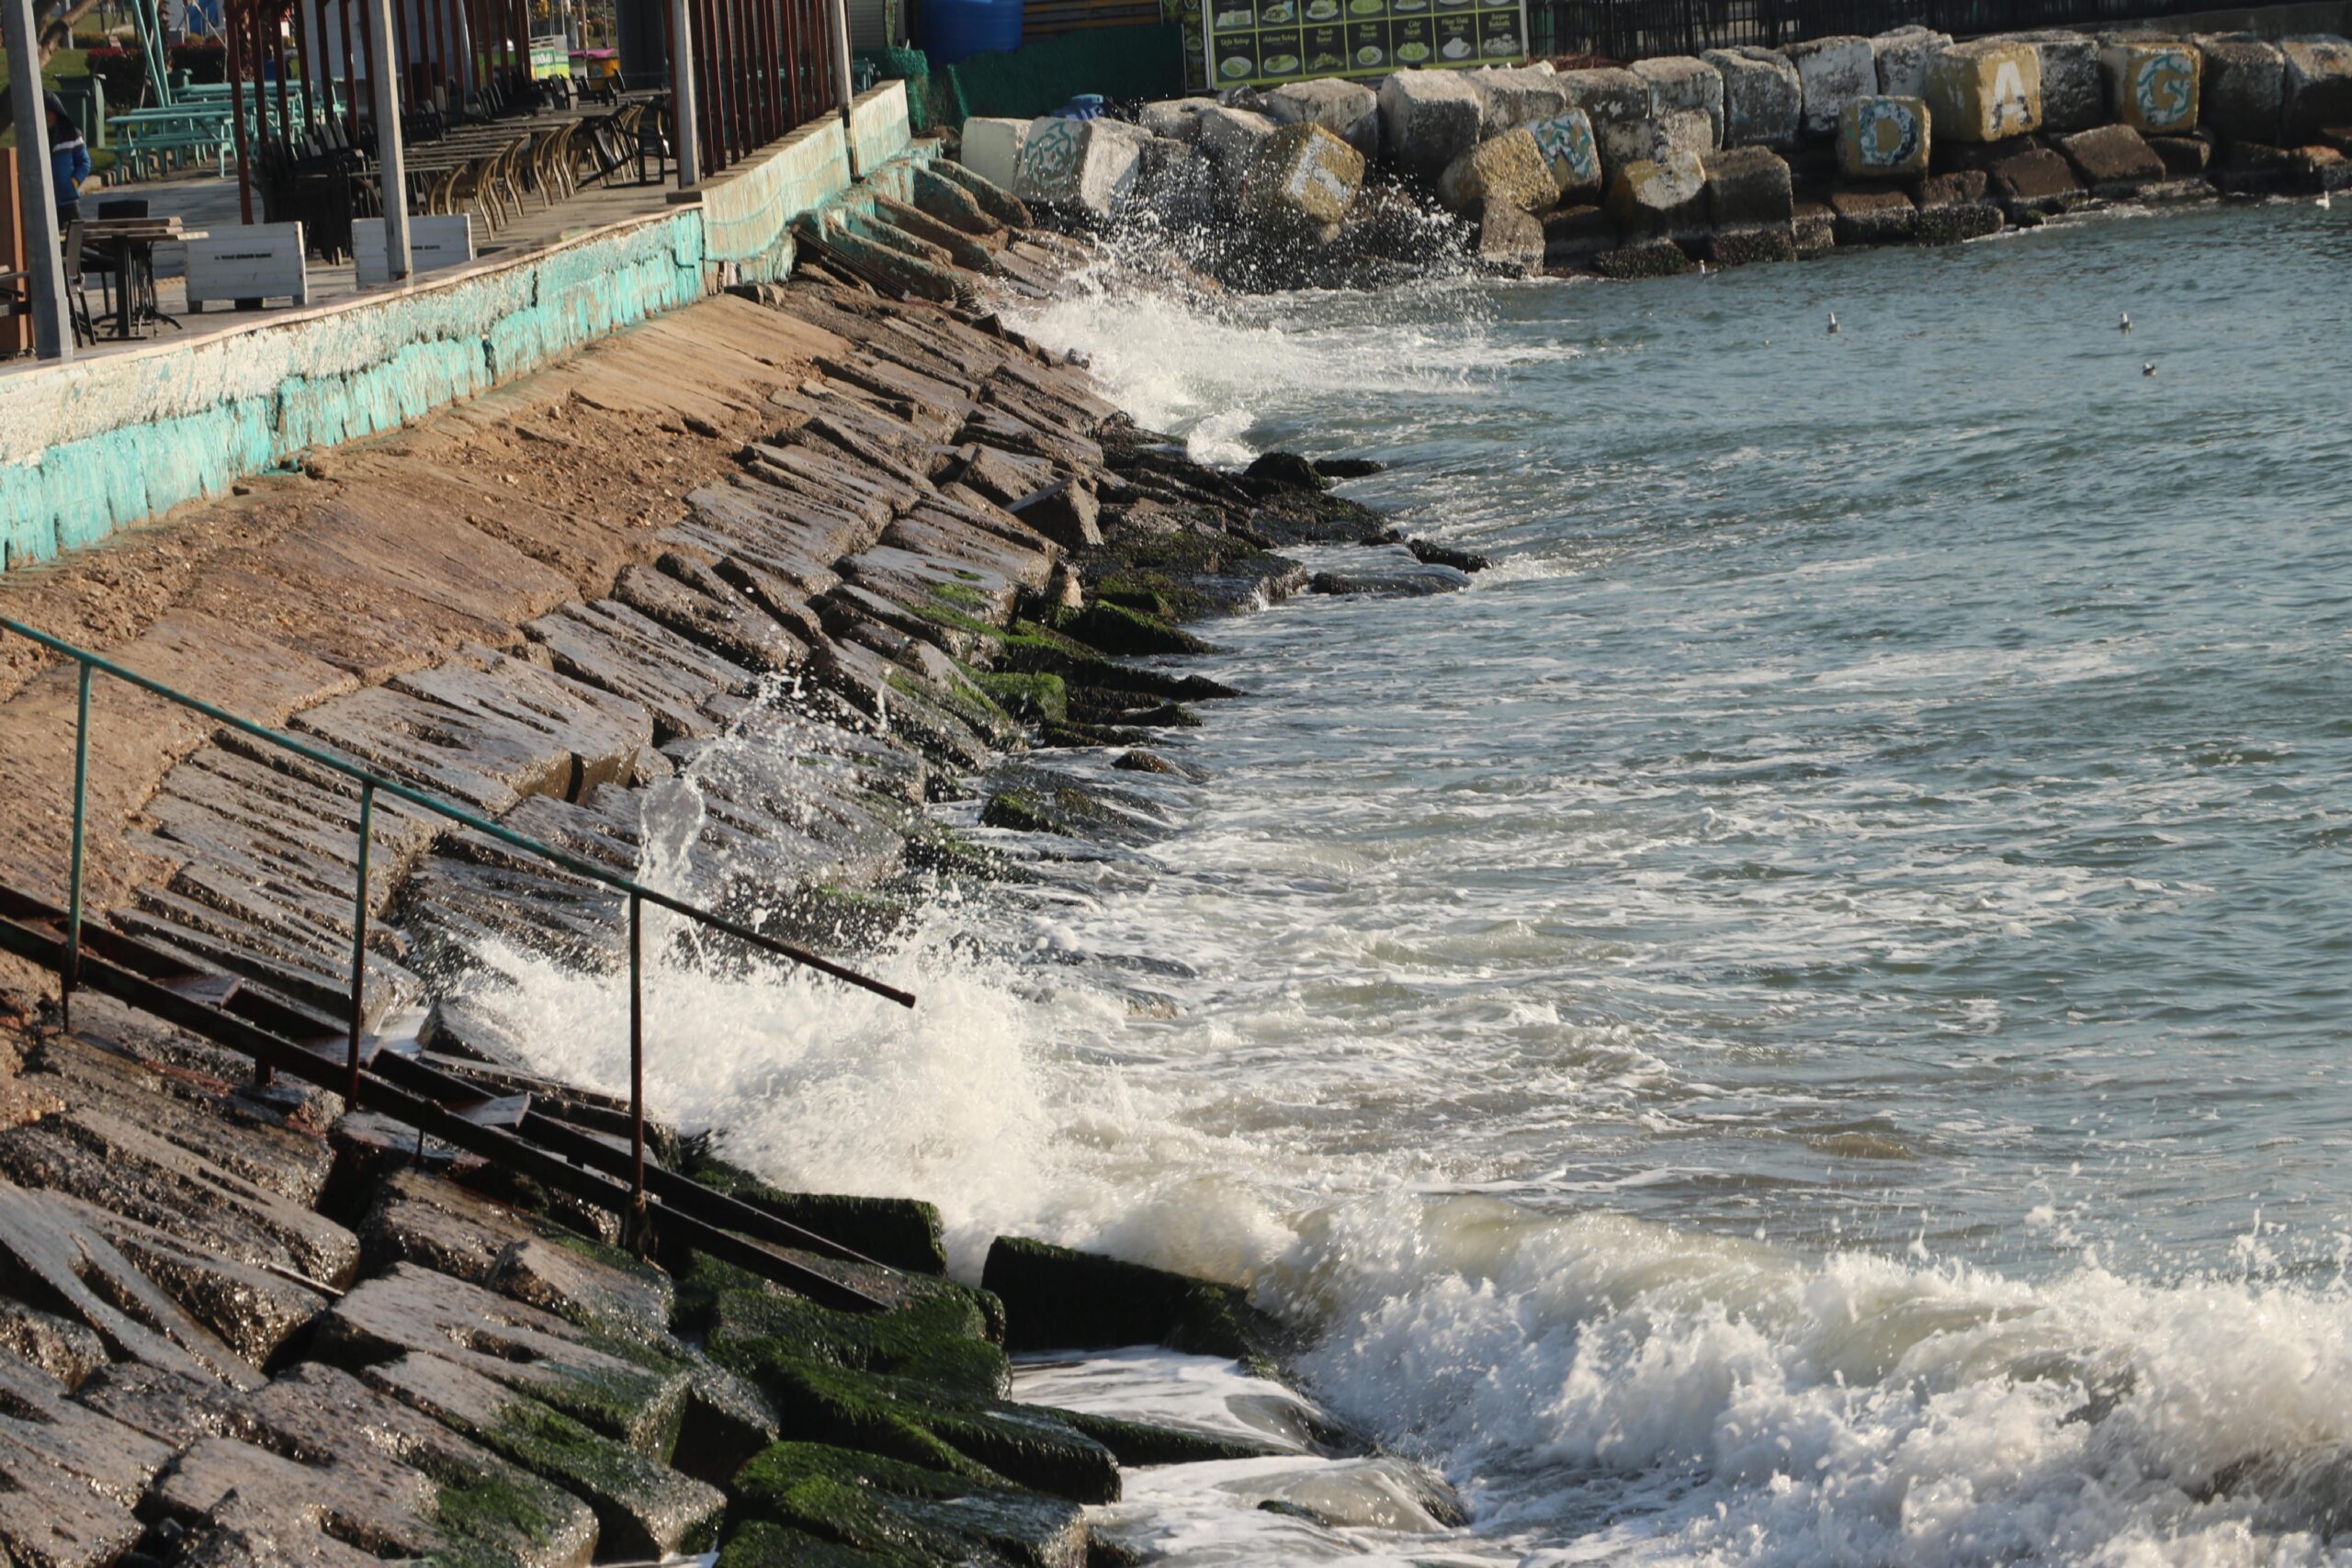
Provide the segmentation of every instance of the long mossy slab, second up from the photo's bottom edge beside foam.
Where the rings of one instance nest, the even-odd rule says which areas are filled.
[[[1044,1410],[816,1361],[774,1366],[767,1378],[786,1439],[863,1448],[976,1483],[995,1474],[1070,1502],[1120,1500],[1110,1448]]]

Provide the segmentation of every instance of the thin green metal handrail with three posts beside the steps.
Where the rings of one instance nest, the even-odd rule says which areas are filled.
[[[334,773],[341,773],[360,785],[360,867],[358,867],[360,875],[358,875],[358,891],[353,896],[353,922],[350,922],[353,926],[350,1018],[348,1018],[350,1053],[346,1058],[346,1074],[343,1074],[346,1105],[360,1103],[360,1020],[362,1020],[360,992],[367,983],[367,856],[374,844],[379,790],[395,799],[405,799],[412,806],[421,806],[433,816],[459,823],[461,827],[487,832],[501,844],[520,849],[529,856],[539,856],[541,860],[548,860],[550,865],[557,865],[572,872],[574,877],[586,877],[588,882],[597,882],[602,886],[614,889],[616,893],[628,896],[628,1121],[630,1121],[630,1168],[633,1168],[630,1197],[640,1218],[644,1215],[644,954],[640,940],[644,924],[644,905],[656,905],[661,910],[670,910],[673,914],[684,914],[696,924],[710,926],[713,931],[724,931],[727,936],[741,943],[750,943],[762,952],[774,952],[776,957],[793,959],[795,964],[804,964],[807,969],[816,969],[818,973],[828,973],[835,980],[844,980],[849,985],[870,990],[877,997],[889,997],[898,1006],[908,1009],[915,1006],[913,992],[903,992],[896,985],[884,985],[882,980],[861,976],[854,969],[835,964],[833,959],[823,959],[793,943],[781,943],[771,936],[762,936],[760,931],[731,922],[724,914],[713,914],[710,910],[684,903],[682,898],[673,898],[659,889],[649,889],[635,882],[633,877],[621,877],[619,872],[609,872],[602,865],[583,860],[569,851],[555,849],[553,844],[541,844],[529,835],[492,823],[489,818],[475,816],[463,806],[452,806],[449,802],[435,799],[423,790],[414,790],[400,783],[397,778],[386,778],[383,773],[362,769],[353,762],[336,757],[334,752],[325,752],[315,745],[303,745],[294,736],[268,729],[266,724],[240,719],[226,708],[214,708],[212,703],[193,698],[183,691],[174,691],[172,686],[165,686],[162,682],[151,679],[146,675],[139,675],[136,670],[125,670],[103,654],[78,649],[71,642],[64,642],[61,637],[52,637],[49,632],[24,625],[21,621],[9,621],[7,616],[0,616],[0,632],[16,632],[19,637],[35,642],[49,649],[52,654],[64,654],[78,665],[75,724],[73,724],[73,858],[71,858],[68,891],[66,891],[66,959],[59,966],[59,1006],[68,1027],[73,1025],[73,985],[82,973],[82,839],[89,816],[92,670],[113,675],[115,679],[139,686],[141,691],[148,691],[153,696],[160,696],[167,703],[179,703],[191,712],[200,712],[207,719],[214,719],[216,724],[235,729],[238,733],[266,741],[278,750],[294,752],[296,757],[315,762],[322,769],[332,769]]]

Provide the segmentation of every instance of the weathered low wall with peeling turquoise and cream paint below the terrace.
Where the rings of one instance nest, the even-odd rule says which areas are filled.
[[[106,538],[296,454],[393,430],[724,282],[793,266],[790,223],[903,195],[903,82],[682,193],[670,212],[261,327],[0,378],[0,571]]]

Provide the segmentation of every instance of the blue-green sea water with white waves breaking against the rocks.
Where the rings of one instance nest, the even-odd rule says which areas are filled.
[[[1174,1561],[2352,1561],[2347,282],[2279,202],[1035,310],[1496,567],[1204,628],[1204,778],[1065,759],[1167,839],[934,910],[913,1018],[691,983],[656,1100],[1249,1281],[1472,1512],[1150,1472]]]

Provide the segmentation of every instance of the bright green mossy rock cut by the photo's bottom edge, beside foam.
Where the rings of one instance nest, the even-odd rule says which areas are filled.
[[[746,1465],[736,1512],[882,1563],[1061,1568],[1087,1554],[1087,1521],[1070,1502],[826,1443],[776,1443]]]

